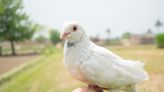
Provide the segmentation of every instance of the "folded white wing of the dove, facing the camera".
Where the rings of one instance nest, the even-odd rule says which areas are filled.
[[[95,45],[92,49],[92,57],[83,62],[80,68],[93,84],[104,88],[115,88],[144,80],[138,75],[144,70],[138,67],[135,69],[134,66],[142,68],[138,62],[126,62],[107,49]]]

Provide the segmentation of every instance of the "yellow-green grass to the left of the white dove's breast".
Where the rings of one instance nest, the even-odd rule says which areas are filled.
[[[24,70],[7,83],[0,85],[0,92],[64,92],[77,84],[64,68],[62,50],[48,49],[44,59]]]

